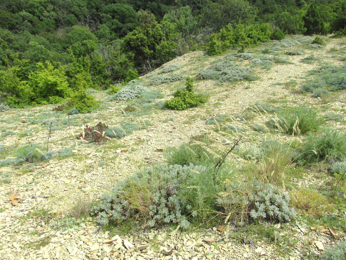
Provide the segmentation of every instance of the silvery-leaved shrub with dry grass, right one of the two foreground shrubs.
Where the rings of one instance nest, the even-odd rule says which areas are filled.
[[[227,182],[225,192],[217,203],[225,209],[230,220],[244,223],[249,218],[275,222],[290,222],[296,212],[289,207],[290,196],[270,183]]]

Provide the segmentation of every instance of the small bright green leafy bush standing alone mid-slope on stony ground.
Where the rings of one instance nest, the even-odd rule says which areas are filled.
[[[207,102],[207,98],[204,98],[202,94],[177,89],[174,97],[165,102],[165,106],[174,110],[185,110],[205,102]]]

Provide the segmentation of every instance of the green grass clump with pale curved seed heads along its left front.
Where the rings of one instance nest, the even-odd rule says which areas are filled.
[[[324,123],[313,108],[298,107],[287,109],[283,114],[275,115],[267,124],[290,135],[300,135],[315,132]]]

